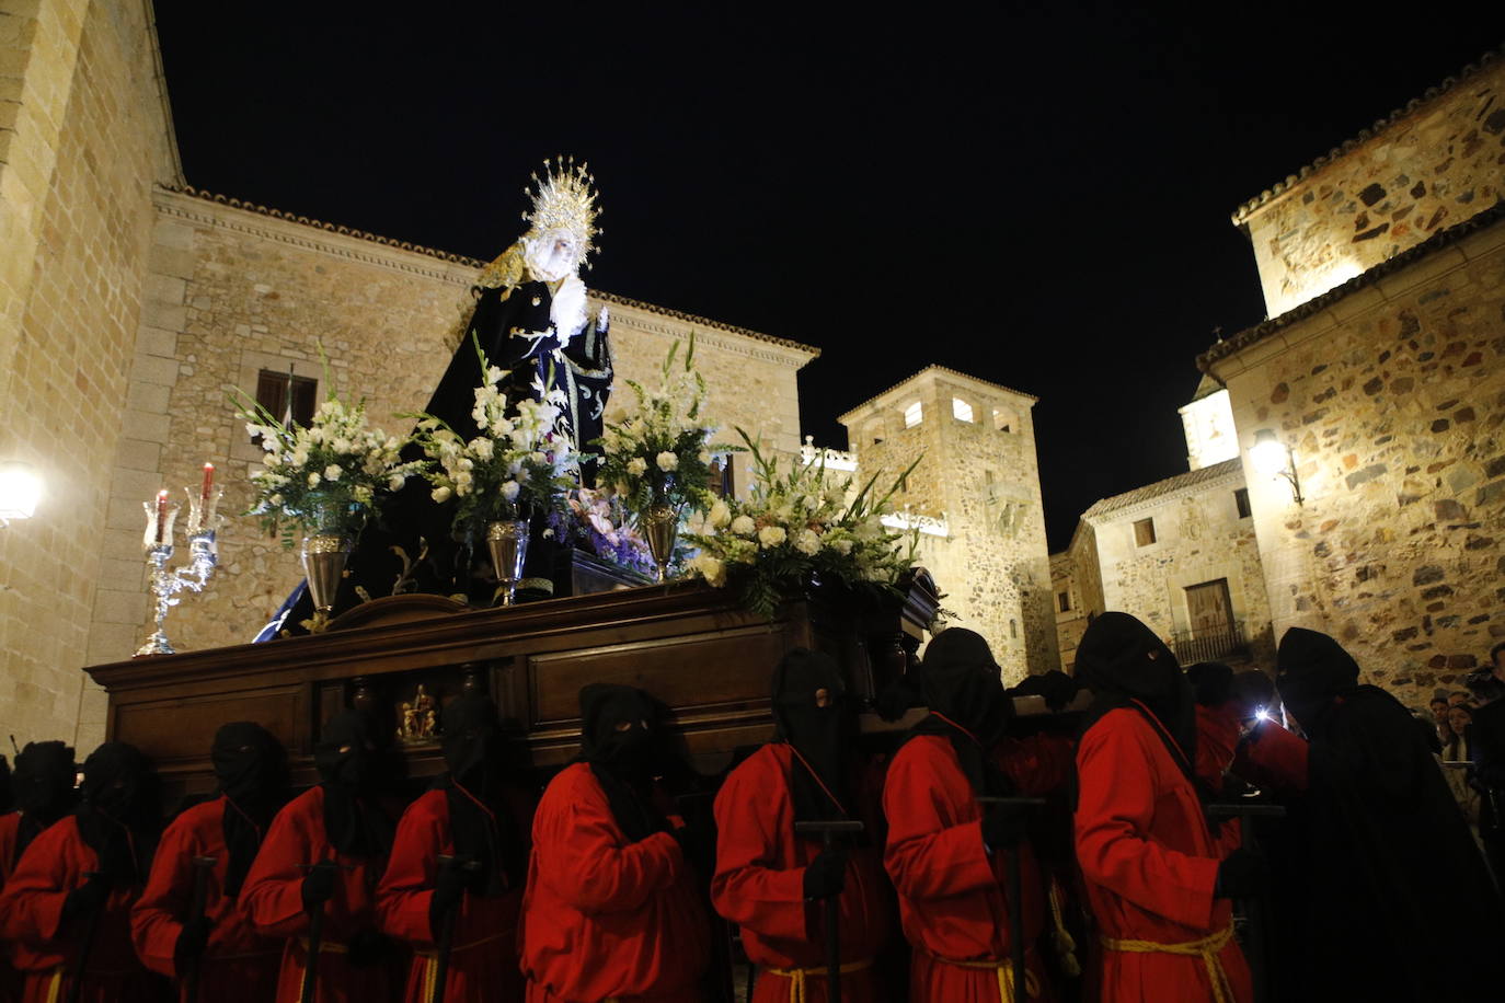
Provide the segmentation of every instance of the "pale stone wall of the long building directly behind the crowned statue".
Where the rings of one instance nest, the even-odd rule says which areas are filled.
[[[141,583],[141,501],[161,487],[196,484],[205,460],[226,487],[221,511],[250,504],[248,474],[260,450],[235,418],[226,388],[254,392],[260,370],[321,380],[366,398],[375,424],[405,433],[396,412],[421,409],[459,341],[476,262],[367,235],[269,215],[190,192],[157,192],[157,227],[137,341],[126,450],[110,505],[107,561],[116,567],[96,660],[126,657],[146,633]],[[631,398],[620,382],[650,382],[671,341],[697,332],[695,358],[710,386],[710,411],[727,426],[762,432],[798,450],[796,371],[813,350],[634,301],[597,296],[611,308],[619,388],[611,412]],[[181,540],[179,540],[181,543]],[[248,641],[301,577],[295,553],[232,517],[220,537],[209,588],[173,611],[179,648]]]

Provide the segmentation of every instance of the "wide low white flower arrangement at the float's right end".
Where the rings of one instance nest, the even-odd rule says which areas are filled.
[[[920,535],[894,532],[882,517],[894,511],[889,499],[914,465],[880,498],[880,474],[853,493],[852,480],[835,480],[823,463],[795,462],[781,474],[737,433],[752,454],[752,489],[746,501],[718,498],[689,516],[686,541],[700,547],[689,570],[713,588],[734,585],[743,603],[768,618],[814,582],[892,592],[915,564]]]

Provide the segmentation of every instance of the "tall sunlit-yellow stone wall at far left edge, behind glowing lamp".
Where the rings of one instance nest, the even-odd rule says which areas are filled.
[[[120,415],[152,235],[178,164],[150,8],[12,0],[0,11],[0,459],[45,480],[0,529],[0,710],[17,741],[104,734],[84,692]]]

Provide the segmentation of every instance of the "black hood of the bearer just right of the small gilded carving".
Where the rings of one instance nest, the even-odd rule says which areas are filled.
[[[465,693],[444,705],[439,740],[448,773],[435,780],[450,809],[455,856],[476,863],[467,886],[501,895],[522,881],[527,850],[506,798],[506,756],[497,705]]]

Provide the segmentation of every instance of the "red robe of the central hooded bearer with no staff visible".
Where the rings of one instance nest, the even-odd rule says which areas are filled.
[[[674,836],[628,842],[590,764],[549,782],[522,899],[528,1003],[698,1003],[710,928]]]

